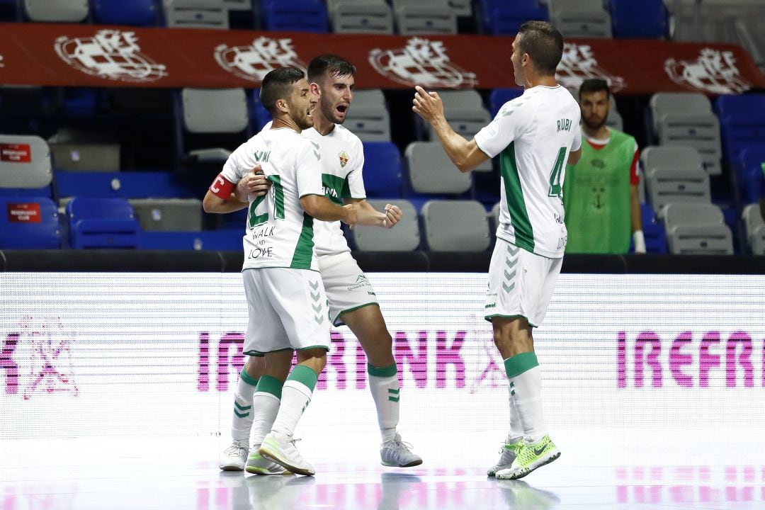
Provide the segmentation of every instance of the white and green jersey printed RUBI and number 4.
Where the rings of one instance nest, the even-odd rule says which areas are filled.
[[[563,256],[563,180],[569,152],[581,148],[580,117],[567,89],[535,86],[506,102],[475,136],[481,151],[500,156],[497,237],[537,255]]]

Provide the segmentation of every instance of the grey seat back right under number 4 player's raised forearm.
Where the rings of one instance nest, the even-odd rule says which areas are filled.
[[[438,141],[414,141],[407,146],[405,157],[409,184],[415,193],[459,194],[470,190],[470,174],[454,167]]]

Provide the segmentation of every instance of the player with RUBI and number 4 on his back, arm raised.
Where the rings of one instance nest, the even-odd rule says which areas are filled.
[[[505,360],[509,434],[489,476],[517,479],[560,456],[542,415],[539,362],[532,328],[545,317],[566,247],[565,165],[581,156],[580,109],[555,82],[563,37],[552,24],[528,21],[513,41],[513,72],[526,90],[467,141],[444,118],[437,93],[415,87],[412,109],[435,129],[461,172],[500,158],[500,225],[489,267],[485,317]]]

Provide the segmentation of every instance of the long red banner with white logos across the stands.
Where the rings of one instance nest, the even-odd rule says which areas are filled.
[[[360,88],[515,86],[512,37],[217,31],[91,24],[0,24],[0,83],[45,86],[256,87],[276,67],[340,54]],[[570,89],[604,78],[614,93],[740,93],[765,86],[731,44],[572,39],[558,67]]]

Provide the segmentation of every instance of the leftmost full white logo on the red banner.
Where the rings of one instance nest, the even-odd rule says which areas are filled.
[[[83,73],[123,82],[153,82],[167,68],[142,54],[135,32],[99,30],[93,37],[62,35],[54,50],[61,60]]]

